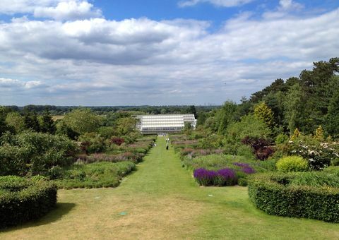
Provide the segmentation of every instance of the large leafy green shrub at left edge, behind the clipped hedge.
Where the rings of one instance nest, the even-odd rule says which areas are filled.
[[[78,146],[64,136],[25,131],[0,138],[0,175],[44,174],[49,168],[69,164]]]

